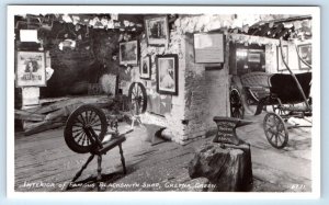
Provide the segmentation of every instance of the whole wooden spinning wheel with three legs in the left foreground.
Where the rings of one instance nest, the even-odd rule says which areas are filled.
[[[114,122],[111,124],[111,128],[116,128],[117,124]],[[102,155],[114,147],[118,147],[121,155],[121,162],[123,166],[123,172],[126,173],[125,159],[123,156],[122,143],[126,140],[125,135],[118,135],[117,129],[112,135],[113,139],[109,141],[103,141],[103,138],[107,132],[106,116],[102,110],[93,105],[81,105],[76,111],[73,111],[66,122],[66,127],[64,130],[64,138],[67,146],[78,153],[90,152],[90,157],[87,159],[86,163],[76,173],[72,181],[73,183],[82,174],[83,170],[92,161],[94,156],[98,157],[98,191],[101,190],[100,182],[102,180]],[[67,186],[66,190],[71,189]]]

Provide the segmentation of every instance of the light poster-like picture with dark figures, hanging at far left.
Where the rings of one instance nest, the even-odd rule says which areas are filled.
[[[45,87],[45,59],[43,52],[18,52],[16,87]]]

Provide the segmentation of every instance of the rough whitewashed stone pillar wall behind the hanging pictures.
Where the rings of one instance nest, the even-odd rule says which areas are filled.
[[[174,138],[184,145],[191,139],[204,136],[215,127],[213,117],[228,116],[228,55],[225,64],[195,64],[193,35],[171,31],[168,47],[147,46],[145,38],[140,41],[140,56],[151,56],[151,80],[140,80],[139,68],[132,69],[132,79],[143,82],[147,88],[148,98],[166,98],[156,91],[156,55],[177,54],[179,56],[179,94],[171,96],[171,110],[162,116],[150,112],[141,115],[141,122],[168,127]],[[228,52],[229,46],[226,46]],[[206,67],[219,67],[213,80],[207,79]],[[134,71],[133,71],[134,70]],[[211,75],[212,76],[212,75]],[[209,88],[215,88],[214,92]],[[217,93],[217,94],[216,94]],[[215,102],[215,103],[214,103]]]

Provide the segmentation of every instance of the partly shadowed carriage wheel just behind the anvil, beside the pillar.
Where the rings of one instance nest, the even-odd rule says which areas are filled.
[[[237,89],[232,89],[230,91],[229,101],[230,101],[230,115],[236,118],[243,118],[245,109],[242,105],[240,92]]]

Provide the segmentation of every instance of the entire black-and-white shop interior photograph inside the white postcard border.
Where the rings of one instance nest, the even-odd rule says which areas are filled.
[[[311,192],[311,14],[14,15],[14,191]]]

